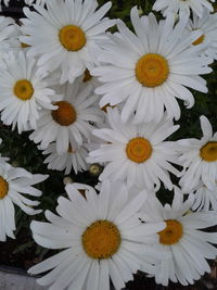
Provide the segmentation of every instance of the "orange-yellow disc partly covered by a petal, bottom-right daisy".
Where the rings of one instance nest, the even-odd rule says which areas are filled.
[[[166,220],[166,228],[157,234],[159,235],[159,242],[162,244],[170,245],[177,243],[181,239],[183,228],[178,220],[168,219]]]

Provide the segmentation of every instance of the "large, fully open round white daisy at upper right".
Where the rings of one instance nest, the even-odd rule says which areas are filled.
[[[180,108],[176,98],[188,108],[194,104],[186,86],[207,92],[205,80],[199,75],[212,71],[207,67],[212,61],[199,56],[200,46],[190,46],[201,34],[186,35],[186,20],[174,27],[171,15],[159,24],[152,13],[139,18],[137,8],[131,10],[131,22],[137,35],[119,23],[119,33],[110,35],[113,43],[99,56],[104,65],[91,71],[105,83],[95,89],[103,94],[100,106],[124,102],[125,122],[135,111],[135,123],[158,122],[164,108],[169,117],[178,119]]]

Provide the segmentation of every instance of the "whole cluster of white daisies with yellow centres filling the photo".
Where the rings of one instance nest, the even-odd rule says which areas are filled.
[[[63,251],[28,273],[50,270],[38,282],[56,290],[108,290],[110,279],[120,290],[138,270],[163,286],[194,283],[217,256],[217,231],[207,230],[217,225],[217,133],[202,115],[201,140],[173,134],[181,102],[192,109],[194,91],[208,92],[212,4],[156,0],[161,21],[135,7],[132,31],[105,16],[111,2],[25,3],[21,26],[0,18],[1,121],[29,131],[49,169],[103,167],[95,188],[66,185],[56,214],[31,222],[38,244]],[[23,193],[39,197],[31,186],[47,177],[0,159],[0,240],[14,238],[13,203],[40,212]],[[174,198],[163,205],[165,192]]]

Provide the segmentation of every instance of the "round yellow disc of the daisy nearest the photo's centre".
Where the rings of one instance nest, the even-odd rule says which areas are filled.
[[[152,155],[152,146],[144,138],[133,138],[127,143],[126,153],[129,160],[142,163]]]

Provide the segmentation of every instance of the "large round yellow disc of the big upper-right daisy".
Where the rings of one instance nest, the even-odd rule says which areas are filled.
[[[136,77],[144,87],[161,86],[168,77],[169,66],[167,60],[156,53],[143,55],[136,65]]]

